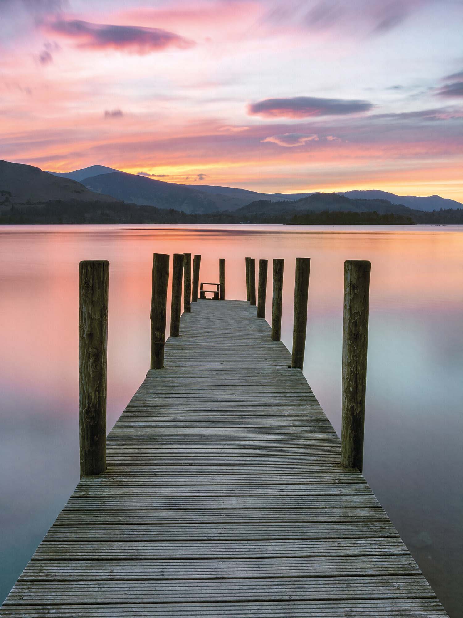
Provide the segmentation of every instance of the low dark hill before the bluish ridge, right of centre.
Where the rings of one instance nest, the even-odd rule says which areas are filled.
[[[388,200],[362,200],[360,198],[348,198],[338,193],[312,193],[308,197],[295,201],[257,200],[238,208],[235,214],[243,216],[251,214],[288,215],[301,211],[312,213],[349,211],[353,213],[411,214],[411,209],[407,206],[391,204]]]

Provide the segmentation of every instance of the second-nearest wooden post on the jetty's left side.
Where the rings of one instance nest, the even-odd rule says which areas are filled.
[[[151,369],[164,367],[165,316],[167,307],[167,282],[169,281],[169,255],[154,253],[152,258],[151,289]]]

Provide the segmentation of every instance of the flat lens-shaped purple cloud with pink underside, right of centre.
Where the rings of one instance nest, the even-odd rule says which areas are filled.
[[[294,96],[288,99],[264,99],[248,106],[249,114],[267,118],[306,118],[309,116],[344,116],[373,109],[369,101],[322,99]]]

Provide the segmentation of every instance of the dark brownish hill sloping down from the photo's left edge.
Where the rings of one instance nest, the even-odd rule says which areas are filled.
[[[58,178],[38,167],[0,161],[0,208],[15,204],[44,204],[50,200],[114,201],[108,195],[97,195],[68,178]]]

